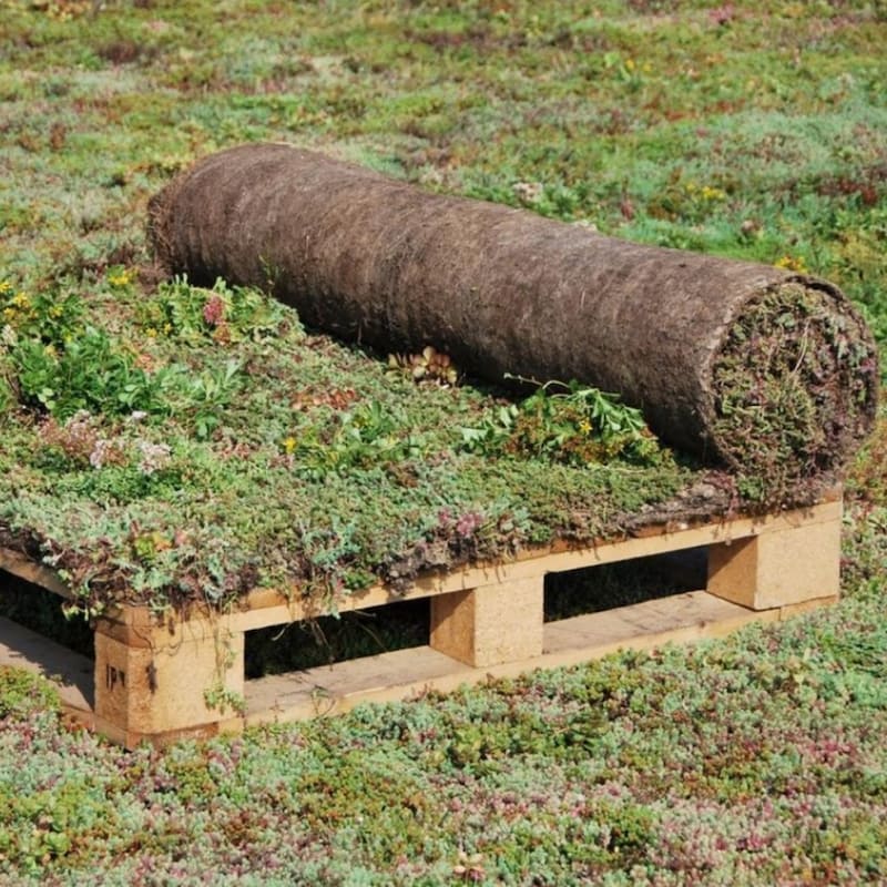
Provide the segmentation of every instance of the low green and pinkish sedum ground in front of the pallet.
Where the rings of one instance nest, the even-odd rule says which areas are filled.
[[[879,884],[883,615],[856,577],[725,641],[166,751],[0,704],[0,879]]]

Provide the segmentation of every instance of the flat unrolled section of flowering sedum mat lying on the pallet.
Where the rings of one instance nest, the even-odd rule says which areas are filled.
[[[397,588],[727,497],[594,389],[453,386],[430,351],[379,359],[255,290],[2,286],[3,538],[92,611]]]

